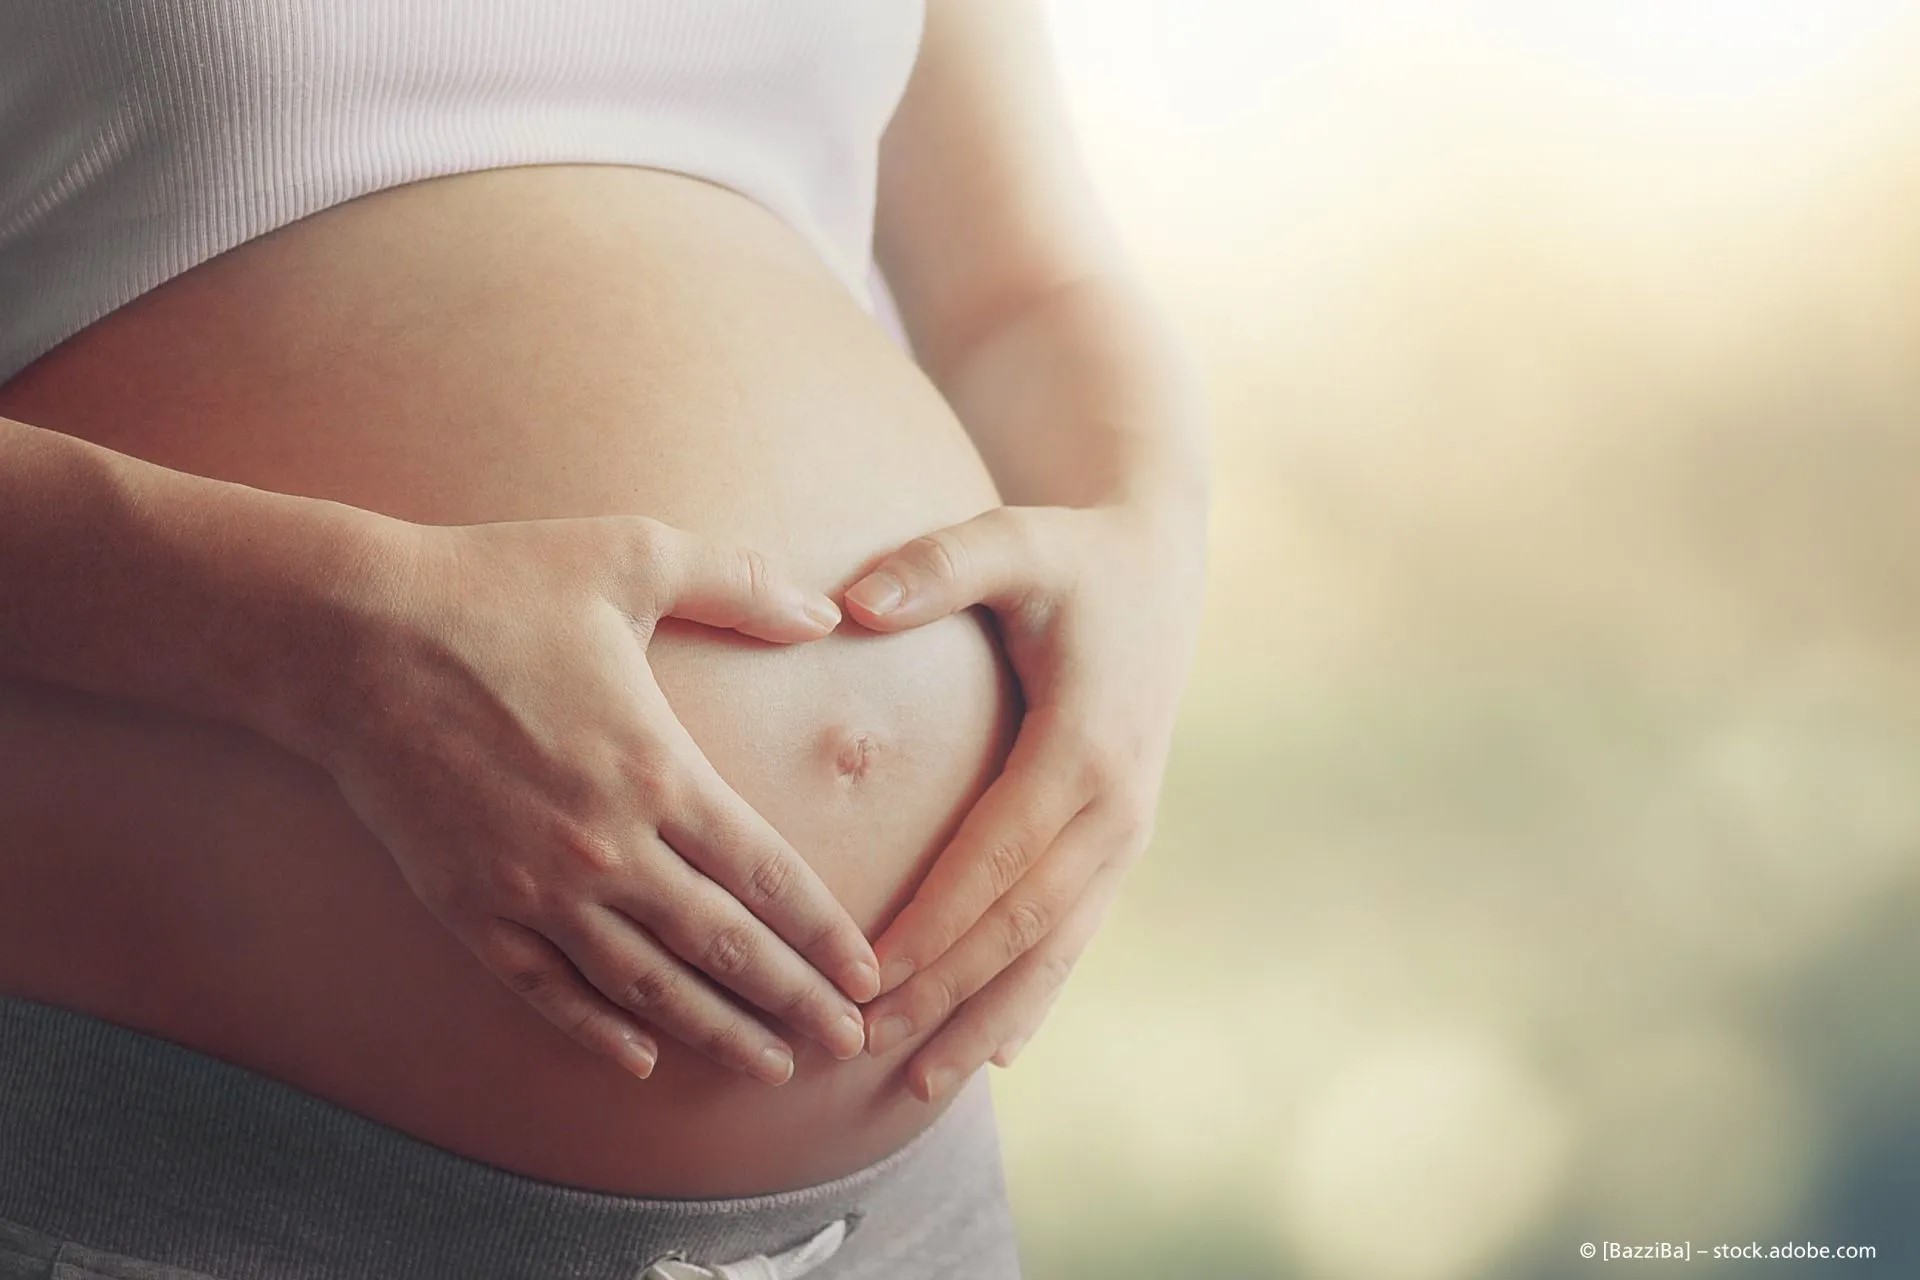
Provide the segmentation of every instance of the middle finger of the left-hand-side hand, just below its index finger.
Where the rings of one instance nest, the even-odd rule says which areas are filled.
[[[858,1055],[866,1042],[860,1007],[841,996],[818,969],[774,936],[720,885],[678,858],[674,862],[684,881],[678,889],[666,892],[649,889],[645,894],[611,900],[607,908],[616,908],[645,925],[647,933],[689,967],[753,1007],[766,1009],[787,1027],[812,1036],[833,1057]]]

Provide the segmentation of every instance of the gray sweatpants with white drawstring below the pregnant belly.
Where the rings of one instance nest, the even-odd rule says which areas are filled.
[[[639,1199],[524,1178],[171,1040],[0,994],[0,1280],[703,1274],[1018,1280],[985,1071],[845,1178]]]

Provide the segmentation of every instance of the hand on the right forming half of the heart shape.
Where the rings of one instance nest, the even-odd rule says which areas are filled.
[[[996,507],[916,537],[847,591],[876,631],[985,604],[1027,704],[1006,768],[874,942],[868,1052],[945,1023],[908,1067],[920,1098],[1014,1061],[1144,852],[1204,545],[1204,509]]]

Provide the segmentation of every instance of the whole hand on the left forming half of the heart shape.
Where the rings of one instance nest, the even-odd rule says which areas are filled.
[[[828,635],[833,603],[647,516],[396,524],[394,604],[355,637],[317,758],[426,910],[639,1077],[655,1032],[772,1084],[793,1073],[716,984],[856,1055],[847,996],[879,988],[874,950],[645,660],[660,618],[793,643]]]

